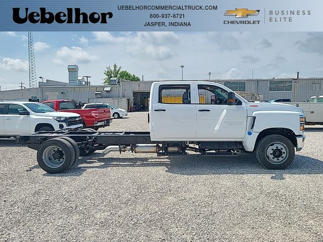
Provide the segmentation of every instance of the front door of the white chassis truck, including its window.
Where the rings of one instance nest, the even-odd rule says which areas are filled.
[[[228,105],[228,91],[212,84],[195,83],[196,139],[241,141],[246,134],[247,109],[244,102]],[[198,93],[198,94],[197,94]]]

